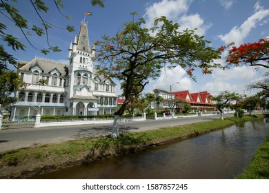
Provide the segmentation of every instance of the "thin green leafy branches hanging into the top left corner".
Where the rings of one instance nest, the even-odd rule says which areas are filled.
[[[53,0],[54,6],[59,11],[59,14],[61,14],[66,19],[71,19],[71,17],[66,16],[61,12],[60,8],[64,8],[63,4],[61,3],[61,0]],[[48,4],[48,2],[46,2]],[[28,6],[29,12],[34,12],[36,14],[36,17],[38,17],[41,21],[41,26],[38,26],[37,24],[33,24],[32,26],[29,26],[28,20],[24,18],[20,12],[19,8],[17,6],[17,0],[12,0],[12,2],[3,1],[0,0],[0,13],[3,14],[8,20],[12,21],[14,23],[14,26],[18,28],[19,31],[21,31],[21,34],[23,37],[28,41],[30,46],[32,48],[39,50],[43,54],[48,54],[50,51],[53,52],[60,52],[58,45],[51,45],[49,41],[49,28],[55,27],[60,28],[64,30],[68,30],[69,32],[74,31],[73,26],[66,26],[66,28],[58,27],[52,24],[50,21],[46,21],[41,17],[41,12],[48,13],[48,10],[50,8],[46,6],[45,1],[42,0],[30,0],[30,6]],[[91,0],[92,6],[99,5],[101,8],[104,7],[103,1],[101,0]],[[32,10],[30,10],[32,8]],[[7,31],[7,32],[6,32]],[[37,48],[36,45],[34,45],[33,42],[30,41],[29,37],[32,34],[37,34],[37,36],[41,37],[42,35],[46,35],[48,48]],[[26,51],[26,45],[23,45],[21,41],[17,37],[14,37],[12,34],[8,34],[8,29],[5,23],[0,22],[0,37],[1,40],[5,41],[8,46],[12,47],[14,51],[16,50],[24,50]],[[6,69],[8,66],[8,63],[16,66],[17,61],[12,55],[8,54],[6,50],[4,49],[3,45],[0,45],[0,70]]]

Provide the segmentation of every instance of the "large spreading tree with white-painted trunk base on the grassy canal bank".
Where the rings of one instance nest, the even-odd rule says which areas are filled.
[[[136,13],[133,12],[132,15]],[[122,81],[123,96],[126,101],[115,112],[112,136],[119,136],[118,120],[132,96],[143,91],[149,79],[156,79],[163,68],[180,65],[190,77],[195,79],[195,68],[203,74],[212,72],[219,66],[212,63],[220,58],[220,51],[210,48],[203,37],[195,30],[179,32],[179,24],[168,21],[166,17],[155,19],[155,26],[143,28],[144,19],[125,23],[115,37],[104,35],[97,41],[97,70]]]

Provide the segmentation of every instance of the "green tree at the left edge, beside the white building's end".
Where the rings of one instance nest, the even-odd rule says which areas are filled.
[[[18,88],[26,87],[26,83],[20,80],[19,74],[11,70],[3,70],[0,73],[0,104],[1,111],[16,102],[18,99],[14,91]]]

